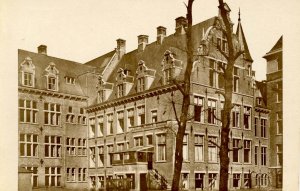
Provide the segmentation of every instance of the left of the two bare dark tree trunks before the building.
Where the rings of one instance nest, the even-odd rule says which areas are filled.
[[[186,31],[186,47],[187,47],[187,65],[184,74],[184,84],[183,84],[183,99],[181,107],[181,115],[178,123],[178,131],[176,135],[176,147],[175,147],[175,163],[174,163],[174,174],[172,181],[172,191],[178,191],[180,188],[180,175],[182,168],[182,147],[183,147],[183,137],[186,130],[186,123],[188,121],[188,113],[190,106],[190,76],[193,68],[193,40],[192,40],[192,6],[194,0],[189,0],[187,7],[187,28]]]

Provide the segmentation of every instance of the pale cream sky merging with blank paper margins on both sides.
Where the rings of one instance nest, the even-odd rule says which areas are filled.
[[[126,40],[127,52],[137,36],[156,39],[156,27],[175,31],[175,18],[185,16],[187,0],[0,0],[0,188],[17,190],[17,50],[37,52],[45,44],[48,55],[85,63]],[[284,75],[284,186],[295,189],[300,180],[299,0],[227,0],[237,26],[243,30],[254,60],[256,79],[266,78],[262,58],[283,37]],[[194,24],[218,15],[217,0],[195,0]],[[299,92],[299,93],[298,93]],[[296,96],[295,96],[296,95]],[[12,101],[14,100],[14,101]],[[8,149],[9,146],[9,149]],[[287,160],[286,160],[287,159]],[[5,161],[5,162],[3,162]],[[8,165],[12,163],[14,165]],[[10,168],[7,168],[9,166]],[[12,178],[14,177],[14,178]],[[286,178],[286,179],[285,179]],[[291,189],[288,189],[291,188]]]

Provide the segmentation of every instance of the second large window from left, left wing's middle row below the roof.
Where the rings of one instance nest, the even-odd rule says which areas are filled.
[[[45,157],[60,158],[62,142],[60,136],[45,136]]]

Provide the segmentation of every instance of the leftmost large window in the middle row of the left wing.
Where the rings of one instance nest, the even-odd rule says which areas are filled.
[[[20,134],[19,143],[21,157],[38,157],[38,135]]]

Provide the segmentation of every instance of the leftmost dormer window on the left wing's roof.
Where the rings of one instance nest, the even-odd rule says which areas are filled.
[[[21,84],[23,86],[34,87],[34,78],[35,78],[35,66],[32,63],[30,57],[25,58],[21,63]]]

